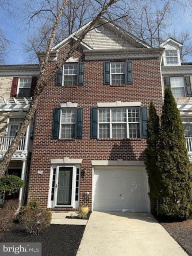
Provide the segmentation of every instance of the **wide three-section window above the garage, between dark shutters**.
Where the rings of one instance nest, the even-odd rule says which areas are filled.
[[[140,137],[139,108],[99,108],[99,138]]]

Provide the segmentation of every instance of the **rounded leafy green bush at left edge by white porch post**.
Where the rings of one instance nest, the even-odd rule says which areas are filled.
[[[10,195],[19,192],[19,189],[24,186],[24,182],[16,175],[6,174],[0,178],[0,195],[5,192]]]

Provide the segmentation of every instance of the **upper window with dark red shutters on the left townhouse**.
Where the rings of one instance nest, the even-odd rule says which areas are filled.
[[[31,77],[20,77],[18,83],[18,93],[19,98],[30,97],[30,87],[31,87]]]

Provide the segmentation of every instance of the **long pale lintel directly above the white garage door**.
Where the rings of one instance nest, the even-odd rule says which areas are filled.
[[[92,166],[145,166],[144,161],[134,160],[91,160]]]

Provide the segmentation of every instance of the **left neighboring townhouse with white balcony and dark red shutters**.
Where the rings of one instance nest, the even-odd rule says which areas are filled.
[[[34,91],[39,65],[0,65],[0,158],[4,155],[13,140],[20,123],[28,110]],[[8,174],[16,174],[26,181],[26,173],[30,167],[32,151],[32,123],[28,126],[17,150],[13,154]],[[18,195],[22,204],[24,192]],[[0,199],[0,203],[3,199]],[[8,197],[7,197],[8,198]]]

